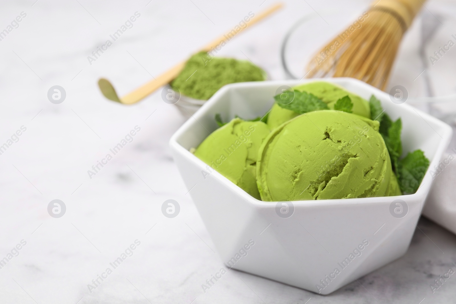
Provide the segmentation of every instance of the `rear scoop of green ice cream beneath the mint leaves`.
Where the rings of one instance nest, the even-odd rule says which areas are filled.
[[[371,118],[370,106],[367,100],[359,97],[356,94],[350,93],[344,88],[339,87],[335,84],[324,81],[316,81],[301,84],[294,87],[293,89],[296,91],[315,95],[316,97],[320,98],[321,101],[326,103],[330,109],[334,109],[334,104],[337,102],[337,100],[345,96],[349,96],[353,103],[352,113],[364,116],[369,119]],[[298,113],[282,108],[277,103],[274,103],[271,111],[269,112],[268,126],[271,130],[275,129],[281,124],[285,123],[285,121],[295,118],[298,115]]]

